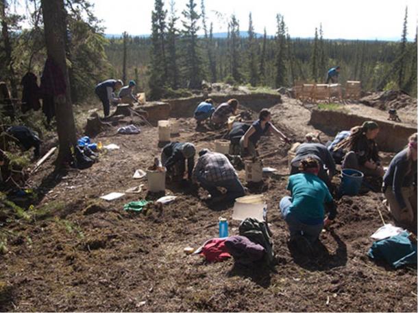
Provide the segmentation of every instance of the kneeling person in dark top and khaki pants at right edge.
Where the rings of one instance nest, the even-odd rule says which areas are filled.
[[[389,211],[397,222],[413,223],[417,218],[417,133],[408,146],[396,154],[383,177],[383,192]]]

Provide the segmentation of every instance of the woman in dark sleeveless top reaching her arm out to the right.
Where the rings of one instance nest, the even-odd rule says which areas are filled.
[[[271,113],[267,108],[262,108],[258,114],[258,119],[254,121],[250,128],[245,132],[245,135],[241,137],[240,146],[241,146],[241,155],[248,152],[251,156],[257,156],[258,152],[256,150],[257,143],[260,140],[261,136],[267,134],[278,135],[285,142],[290,142],[288,138],[271,124]]]

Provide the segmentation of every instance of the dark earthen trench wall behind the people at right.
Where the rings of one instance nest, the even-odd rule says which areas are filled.
[[[309,124],[322,130],[327,135],[334,136],[341,130],[349,130],[354,126],[361,125],[364,121],[370,120],[376,121],[380,126],[380,132],[376,141],[382,151],[399,152],[406,146],[408,137],[417,132],[417,128],[392,121],[328,110],[313,110]]]

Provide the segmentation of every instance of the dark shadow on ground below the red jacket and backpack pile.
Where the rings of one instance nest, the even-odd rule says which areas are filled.
[[[239,276],[243,278],[249,278],[254,281],[258,286],[262,288],[269,288],[271,284],[271,273],[274,268],[266,266],[264,263],[256,263],[251,265],[244,265],[240,263],[234,263],[231,270],[228,272],[228,277]]]

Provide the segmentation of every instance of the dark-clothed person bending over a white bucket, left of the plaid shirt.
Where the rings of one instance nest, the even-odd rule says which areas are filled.
[[[193,143],[172,142],[167,143],[161,152],[161,163],[167,168],[167,174],[172,178],[183,178],[186,171],[188,180],[191,181],[193,167],[195,166],[196,148]]]

